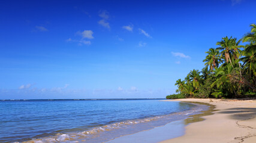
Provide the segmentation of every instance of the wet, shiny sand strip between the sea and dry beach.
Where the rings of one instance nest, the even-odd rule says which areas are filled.
[[[161,102],[165,102],[167,100],[160,100]],[[173,101],[173,102],[180,102],[180,101]],[[190,108],[187,110],[188,113],[191,114],[186,116],[184,119],[179,120],[168,120],[168,123],[161,126],[155,126],[152,129],[141,130],[140,132],[135,132],[127,135],[119,136],[115,139],[110,139],[107,141],[108,143],[119,143],[119,142],[161,142],[165,141],[170,138],[177,138],[185,134],[185,126],[189,123],[199,122],[204,120],[202,116],[206,116],[208,114],[213,114],[215,106],[207,103],[202,102],[180,102],[185,104],[195,105],[195,107]],[[194,111],[193,111],[194,110]],[[190,112],[192,111],[192,113]],[[174,114],[180,114],[179,112]]]

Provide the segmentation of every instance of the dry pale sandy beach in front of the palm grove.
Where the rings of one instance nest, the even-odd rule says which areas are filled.
[[[170,101],[204,102],[215,105],[214,114],[185,127],[185,135],[161,143],[255,143],[256,100],[180,99]]]

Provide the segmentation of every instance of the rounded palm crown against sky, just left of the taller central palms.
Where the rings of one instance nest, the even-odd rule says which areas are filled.
[[[219,63],[221,63],[221,56],[219,56],[219,49],[210,48],[209,51],[206,52],[208,54],[206,56],[206,59],[203,60],[203,62],[206,61],[204,66],[208,67],[210,66],[210,71],[213,71],[216,67],[219,66]]]

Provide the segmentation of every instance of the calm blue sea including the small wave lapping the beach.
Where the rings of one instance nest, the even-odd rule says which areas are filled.
[[[0,142],[103,142],[200,110],[159,100],[0,101]]]

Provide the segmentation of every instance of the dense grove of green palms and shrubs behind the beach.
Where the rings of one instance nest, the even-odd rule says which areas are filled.
[[[225,36],[216,42],[218,47],[206,52],[205,67],[178,79],[177,94],[166,98],[256,97],[256,25],[250,27],[242,39]]]

